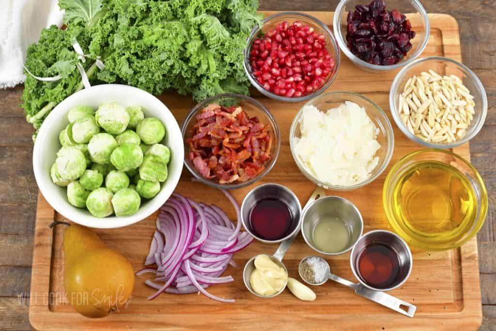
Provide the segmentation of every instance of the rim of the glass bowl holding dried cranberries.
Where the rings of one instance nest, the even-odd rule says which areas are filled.
[[[419,49],[415,51],[411,57],[406,59],[405,61],[400,61],[394,65],[390,66],[379,66],[379,65],[372,65],[368,62],[365,62],[364,60],[360,59],[357,57],[355,54],[351,53],[351,51],[348,49],[348,46],[345,44],[343,35],[341,34],[341,29],[339,28],[338,20],[340,19],[339,16],[341,15],[341,12],[344,10],[344,6],[349,2],[350,0],[340,0],[338,3],[336,10],[334,11],[334,18],[333,18],[333,24],[332,24],[332,29],[334,30],[334,34],[336,35],[336,40],[339,45],[339,48],[341,51],[343,51],[344,54],[354,63],[360,66],[364,66],[368,69],[376,70],[376,71],[387,71],[387,70],[393,70],[400,68],[402,66],[406,66],[412,61],[415,61],[421,54],[424,52],[424,50],[427,47],[427,44],[429,43],[429,37],[431,33],[431,23],[429,22],[429,16],[426,12],[426,9],[422,5],[422,3],[419,0],[409,0],[414,7],[417,8],[419,13],[421,14],[425,24],[425,33],[424,33],[424,40],[422,41],[422,44],[420,45]]]

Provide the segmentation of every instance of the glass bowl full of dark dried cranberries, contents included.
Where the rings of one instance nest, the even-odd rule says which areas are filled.
[[[430,33],[429,18],[418,0],[342,0],[333,27],[341,51],[355,65],[379,72],[415,60]]]

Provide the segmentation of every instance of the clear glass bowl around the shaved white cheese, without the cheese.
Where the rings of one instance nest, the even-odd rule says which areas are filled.
[[[300,121],[303,114],[303,109],[306,106],[313,105],[318,108],[321,112],[327,112],[331,108],[337,108],[339,105],[343,104],[345,101],[351,101],[358,104],[360,107],[364,107],[367,115],[372,120],[372,123],[379,129],[379,134],[377,135],[377,141],[380,144],[380,148],[377,150],[375,156],[379,157],[379,163],[372,170],[371,176],[366,180],[355,183],[350,186],[337,186],[330,185],[328,183],[324,183],[319,181],[310,171],[307,169],[307,166],[302,162],[300,157],[296,154],[295,144],[296,139],[300,138]],[[296,117],[293,120],[293,124],[291,125],[291,130],[289,133],[289,141],[291,147],[291,153],[293,154],[293,158],[295,159],[296,165],[300,169],[300,171],[307,177],[310,181],[315,183],[316,185],[328,189],[328,190],[337,190],[337,191],[350,191],[355,190],[361,187],[366,186],[371,183],[374,179],[376,179],[383,171],[386,169],[389,161],[391,160],[391,156],[393,155],[394,149],[394,134],[393,129],[391,127],[391,123],[389,122],[386,114],[377,106],[372,100],[369,98],[353,92],[329,92],[317,96],[310,101],[308,101],[302,109],[298,112]]]

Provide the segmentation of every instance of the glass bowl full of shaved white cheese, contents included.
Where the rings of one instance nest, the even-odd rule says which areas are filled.
[[[349,191],[376,179],[387,167],[394,134],[386,114],[369,98],[329,92],[298,112],[290,131],[293,158],[316,185]]]

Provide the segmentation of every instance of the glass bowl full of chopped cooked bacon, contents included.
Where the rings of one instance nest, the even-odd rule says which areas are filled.
[[[185,164],[200,182],[223,189],[248,186],[274,166],[281,133],[274,116],[246,95],[205,99],[181,127]]]

